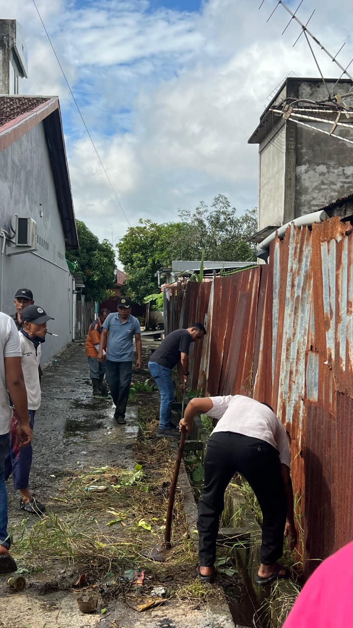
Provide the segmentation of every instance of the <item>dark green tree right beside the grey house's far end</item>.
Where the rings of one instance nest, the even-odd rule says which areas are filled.
[[[99,242],[97,236],[82,220],[76,220],[80,248],[67,251],[70,262],[77,262],[77,270],[85,281],[84,295],[87,300],[104,301],[114,286],[115,252],[108,240]]]

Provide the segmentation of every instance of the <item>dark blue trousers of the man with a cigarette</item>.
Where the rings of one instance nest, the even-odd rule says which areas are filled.
[[[35,425],[35,413],[35,410],[28,410],[31,430],[33,430],[33,426]],[[16,418],[16,409],[14,409],[14,416],[11,422],[10,447],[5,460],[5,479],[7,480],[12,473],[14,489],[21,490],[28,489],[30,483],[33,451],[32,443],[22,449],[16,446],[16,434],[14,431]]]

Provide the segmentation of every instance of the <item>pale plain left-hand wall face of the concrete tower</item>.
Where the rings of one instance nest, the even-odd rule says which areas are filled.
[[[259,150],[259,225],[283,224],[285,199],[285,126],[260,144]]]

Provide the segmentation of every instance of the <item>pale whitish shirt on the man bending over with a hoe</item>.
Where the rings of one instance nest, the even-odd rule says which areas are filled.
[[[286,430],[276,414],[263,403],[241,394],[210,397],[214,407],[208,414],[218,423],[212,431],[231,431],[264,440],[280,452],[280,461],[290,467]]]

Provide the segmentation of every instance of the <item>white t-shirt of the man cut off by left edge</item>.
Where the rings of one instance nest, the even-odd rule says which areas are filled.
[[[0,434],[10,431],[12,408],[9,404],[8,386],[5,377],[6,357],[21,357],[18,330],[12,318],[0,312]]]

